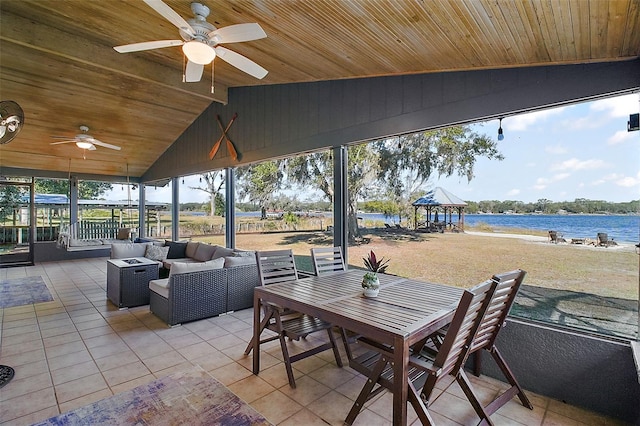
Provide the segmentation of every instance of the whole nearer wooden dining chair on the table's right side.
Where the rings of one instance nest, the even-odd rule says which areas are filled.
[[[496,281],[488,280],[469,290],[465,290],[440,348],[434,351],[428,345],[425,345],[421,351],[416,351],[409,357],[407,369],[408,401],[415,409],[422,424],[434,424],[428,411],[429,404],[432,402],[435,386],[448,375],[453,376],[462,388],[474,410],[480,416],[480,424],[493,424],[482,405],[475,403],[478,398],[463,367],[469,356],[471,343],[478,332],[482,318],[489,308],[489,302],[496,286]],[[367,382],[347,415],[345,420],[347,424],[353,424],[368,399],[384,388],[393,389],[394,378],[391,366],[393,347],[365,337],[358,339],[358,342],[369,347],[373,352],[368,352],[358,357],[362,362],[368,363],[365,367],[370,373],[368,374]],[[371,353],[374,353],[375,356],[372,357]]]

